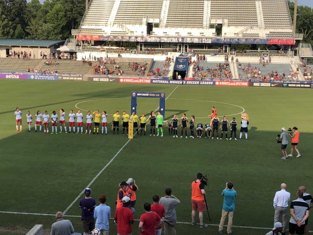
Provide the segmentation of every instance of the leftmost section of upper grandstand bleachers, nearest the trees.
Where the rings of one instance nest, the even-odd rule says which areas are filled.
[[[115,0],[92,0],[82,28],[86,28],[86,25],[106,25],[114,2]]]

